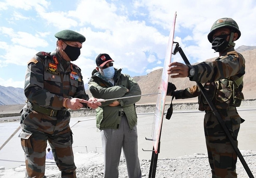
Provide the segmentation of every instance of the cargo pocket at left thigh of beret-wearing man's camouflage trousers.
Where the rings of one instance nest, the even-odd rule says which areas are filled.
[[[22,149],[23,151],[26,153],[26,154],[31,154],[33,153],[33,147],[32,147],[32,144],[31,144],[31,135],[32,133],[31,132],[24,132],[22,131],[20,133],[20,135],[18,137],[20,137],[21,139],[21,146],[22,146]]]

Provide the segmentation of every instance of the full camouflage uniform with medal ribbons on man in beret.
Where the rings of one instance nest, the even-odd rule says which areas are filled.
[[[44,178],[47,140],[62,178],[75,178],[70,112],[63,98],[88,100],[81,70],[57,51],[39,52],[26,70],[24,93],[28,99],[21,115],[20,133],[26,159],[26,178]]]

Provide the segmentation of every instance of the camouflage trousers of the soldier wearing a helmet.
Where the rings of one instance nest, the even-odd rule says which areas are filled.
[[[236,110],[218,111],[225,122],[236,145],[240,129],[241,118]],[[212,178],[237,178],[236,161],[237,155],[222,126],[212,112],[204,116],[204,133],[208,160],[212,170]]]

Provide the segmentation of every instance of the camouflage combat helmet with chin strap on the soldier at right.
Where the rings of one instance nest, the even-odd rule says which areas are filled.
[[[232,38],[233,38],[234,33],[238,33],[237,39],[241,36],[241,32],[239,30],[239,27],[238,27],[236,21],[234,21],[232,18],[221,18],[221,19],[216,20],[216,22],[214,22],[211,27],[210,33],[208,34],[208,40],[210,41],[210,43],[212,43],[212,35],[213,35],[214,31],[216,29],[223,28],[223,27],[228,27],[231,29],[231,35],[230,35],[231,42],[230,43],[232,43]]]

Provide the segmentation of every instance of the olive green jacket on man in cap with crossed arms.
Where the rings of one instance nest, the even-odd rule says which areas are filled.
[[[89,89],[95,98],[112,99],[126,96],[141,95],[141,90],[134,78],[127,74],[122,74],[121,69],[115,68],[114,86],[103,77],[100,72],[93,74],[88,82]],[[129,92],[127,92],[129,89]],[[118,129],[121,121],[121,112],[126,114],[130,129],[137,124],[137,114],[135,103],[140,100],[139,97],[119,99],[120,105],[108,106],[114,100],[102,102],[102,106],[96,109],[96,126],[98,129]]]

